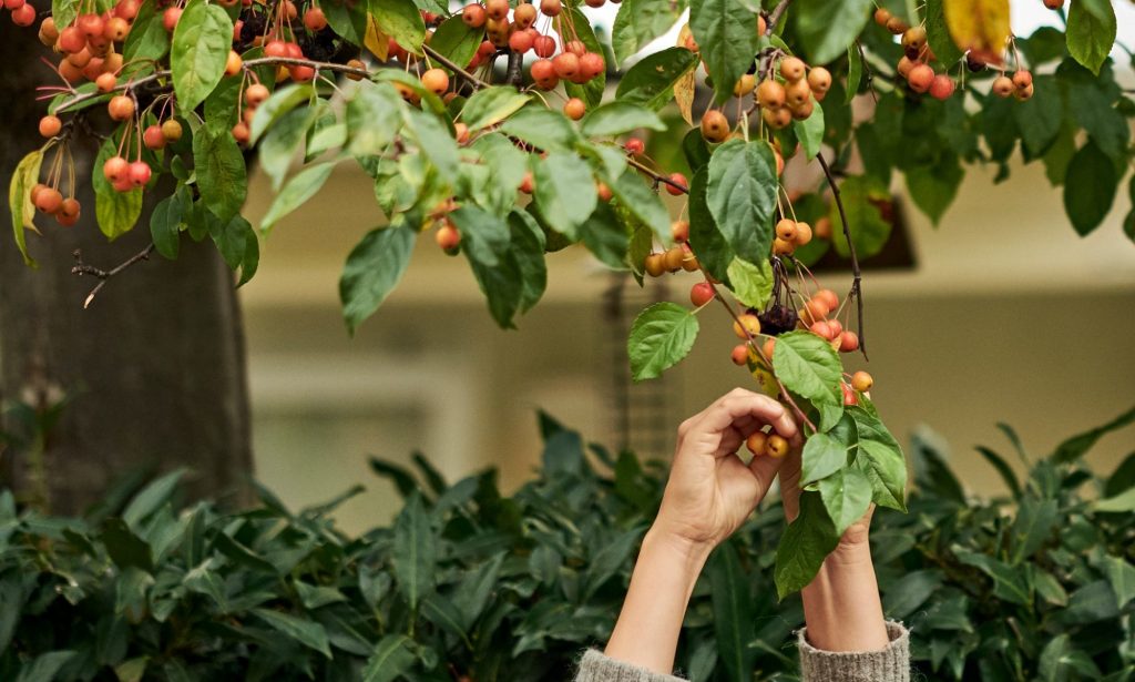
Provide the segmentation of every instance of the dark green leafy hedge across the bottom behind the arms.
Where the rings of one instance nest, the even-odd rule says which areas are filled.
[[[1004,427],[1031,469],[1018,480],[980,448],[1010,490],[992,500],[915,439],[910,513],[881,510],[873,544],[926,679],[1135,676],[1135,454],[1105,479],[1082,458],[1133,420],[1037,460]],[[252,510],[179,508],[175,471],[82,519],[6,491],[0,679],[568,679],[614,624],[665,466],[546,415],[540,429],[543,468],[512,496],[494,471],[451,486],[420,456],[413,471],[372,461],[405,506],[358,538],[329,516],[358,489],[299,513],[264,489]],[[782,528],[768,500],[711,558],[679,651],[692,679],[794,679],[801,607],[777,604],[771,576]]]

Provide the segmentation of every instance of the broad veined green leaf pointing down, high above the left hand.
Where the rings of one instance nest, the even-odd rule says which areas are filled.
[[[776,160],[764,141],[731,140],[709,159],[709,211],[737,255],[751,263],[768,259],[776,186]]]

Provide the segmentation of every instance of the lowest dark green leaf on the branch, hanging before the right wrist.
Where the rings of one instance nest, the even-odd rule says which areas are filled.
[[[819,492],[801,491],[800,515],[789,524],[776,547],[773,575],[777,597],[784,599],[812,582],[839,541]]]

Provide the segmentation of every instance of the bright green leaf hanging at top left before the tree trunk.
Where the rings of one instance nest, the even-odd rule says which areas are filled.
[[[188,115],[225,75],[233,44],[233,20],[219,5],[190,0],[174,30],[169,65],[177,106]]]

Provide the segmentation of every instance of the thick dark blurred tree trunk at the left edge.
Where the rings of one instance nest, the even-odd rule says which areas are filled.
[[[9,65],[0,74],[6,190],[19,159],[42,143],[36,121],[44,108],[34,89],[58,83],[39,61],[50,51],[35,33],[0,22],[0,56]],[[24,266],[10,233],[0,238],[0,397],[35,403],[61,390],[72,401],[45,443],[42,485],[34,462],[11,451],[0,454],[0,472],[17,492],[45,495],[41,502],[56,513],[82,511],[138,469],[177,465],[193,472],[191,496],[242,504],[252,463],[233,276],[211,244],[185,238],[177,261],[152,254],[107,280],[84,310],[99,280],[73,275],[72,253],[81,249],[87,264],[103,270],[138,253],[150,241],[153,202],[134,230],[108,243],[94,219],[95,141],[73,149],[79,222],[64,228],[36,217],[43,236],[27,237],[39,269]],[[7,202],[3,212],[7,231]]]

